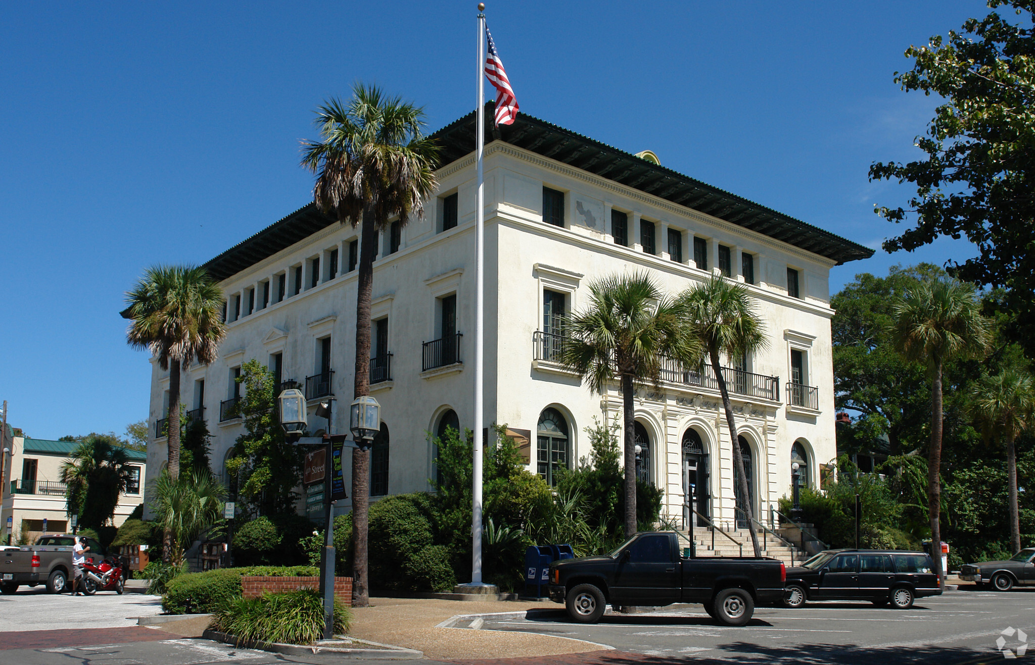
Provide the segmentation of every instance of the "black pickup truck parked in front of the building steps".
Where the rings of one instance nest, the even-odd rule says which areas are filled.
[[[684,556],[683,554],[690,554]],[[701,603],[720,624],[743,626],[756,604],[783,599],[787,569],[775,558],[697,557],[675,532],[640,533],[611,552],[550,565],[550,599],[573,621],[594,624],[611,605]]]

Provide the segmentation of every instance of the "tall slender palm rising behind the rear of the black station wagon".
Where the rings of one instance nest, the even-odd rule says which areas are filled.
[[[951,277],[930,277],[896,298],[892,304],[891,333],[907,360],[924,360],[931,379],[930,449],[927,453],[927,506],[930,519],[931,558],[945,584],[942,557],[942,369],[947,360],[982,355],[988,346],[990,326],[981,315],[971,284]]]

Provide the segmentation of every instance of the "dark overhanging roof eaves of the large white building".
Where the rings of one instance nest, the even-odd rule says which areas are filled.
[[[873,249],[828,231],[528,114],[519,114],[511,125],[496,127],[493,102],[486,107],[485,139],[489,142],[504,141],[775,238],[830,259],[837,265],[874,255]],[[432,134],[441,147],[442,167],[474,152],[475,122],[476,114],[472,111]],[[215,279],[226,279],[333,223],[336,223],[334,219],[310,203],[224,251],[204,267]]]

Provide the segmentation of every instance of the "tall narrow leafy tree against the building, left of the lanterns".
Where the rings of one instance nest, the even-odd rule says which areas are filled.
[[[304,453],[287,441],[277,420],[273,372],[252,359],[241,366],[237,381],[244,387],[237,404],[244,432],[227,458],[227,473],[253,517],[293,512]]]

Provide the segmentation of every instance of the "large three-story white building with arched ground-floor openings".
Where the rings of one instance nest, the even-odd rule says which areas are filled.
[[[373,453],[375,496],[431,489],[428,433],[474,420],[474,123],[472,113],[436,133],[437,195],[423,219],[380,239],[371,391],[388,444]],[[790,495],[792,460],[803,482],[819,484],[836,456],[828,274],[873,251],[666,169],[653,153],[524,114],[489,126],[486,140],[484,422],[527,439],[529,470],[552,481],[558,465],[588,455],[594,418],[621,419],[617,384],[593,394],[556,362],[559,315],[584,306],[587,284],[646,271],[677,294],[719,272],[746,285],[769,339],[753,357],[728,359],[726,370],[755,510],[768,518]],[[216,362],[184,371],[181,399],[206,419],[217,471],[241,433],[233,380],[246,360],[302,384],[313,404],[352,400],[357,249],[357,230],[310,204],[205,265],[226,294],[229,332]],[[149,422],[158,433],[169,375],[152,365]],[[664,514],[688,521],[692,507],[733,520],[732,450],[714,377],[706,368],[664,379],[659,390],[637,388],[640,473],[663,489]],[[333,433],[347,429],[339,413]],[[157,436],[152,474],[166,457]]]

